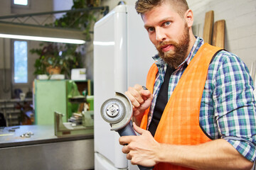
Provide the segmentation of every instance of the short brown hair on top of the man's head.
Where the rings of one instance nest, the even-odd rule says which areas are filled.
[[[138,0],[135,4],[135,9],[137,13],[144,15],[144,13],[151,11],[152,8],[161,6],[165,1],[168,1],[180,16],[183,16],[188,10],[186,0]]]

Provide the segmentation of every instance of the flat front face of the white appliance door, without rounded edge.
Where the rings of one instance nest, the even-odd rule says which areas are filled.
[[[114,13],[109,14],[111,15],[95,23],[94,28],[94,135],[95,152],[100,152],[114,162],[114,154],[109,150],[113,147],[114,133],[110,132],[110,125],[100,115],[102,103],[108,96],[114,96],[114,86],[109,84],[114,81],[114,77],[109,77],[114,74],[114,70],[105,69],[114,67]]]

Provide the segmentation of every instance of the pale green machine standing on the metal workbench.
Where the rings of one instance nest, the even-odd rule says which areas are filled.
[[[54,125],[58,137],[93,135],[90,81],[36,80],[35,91],[36,125]]]

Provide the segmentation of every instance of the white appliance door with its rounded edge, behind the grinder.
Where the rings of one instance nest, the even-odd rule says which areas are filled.
[[[110,130],[100,115],[102,103],[114,97],[115,91],[127,89],[127,8],[117,6],[94,28],[94,126],[95,169],[101,170],[99,161],[105,158],[115,168],[127,169],[127,159],[119,145],[119,135]],[[96,157],[96,155],[95,155]],[[113,169],[114,169],[113,167]]]

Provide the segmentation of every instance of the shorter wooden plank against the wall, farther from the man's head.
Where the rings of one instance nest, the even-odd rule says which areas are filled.
[[[225,48],[225,20],[216,21],[214,23],[213,45]]]

